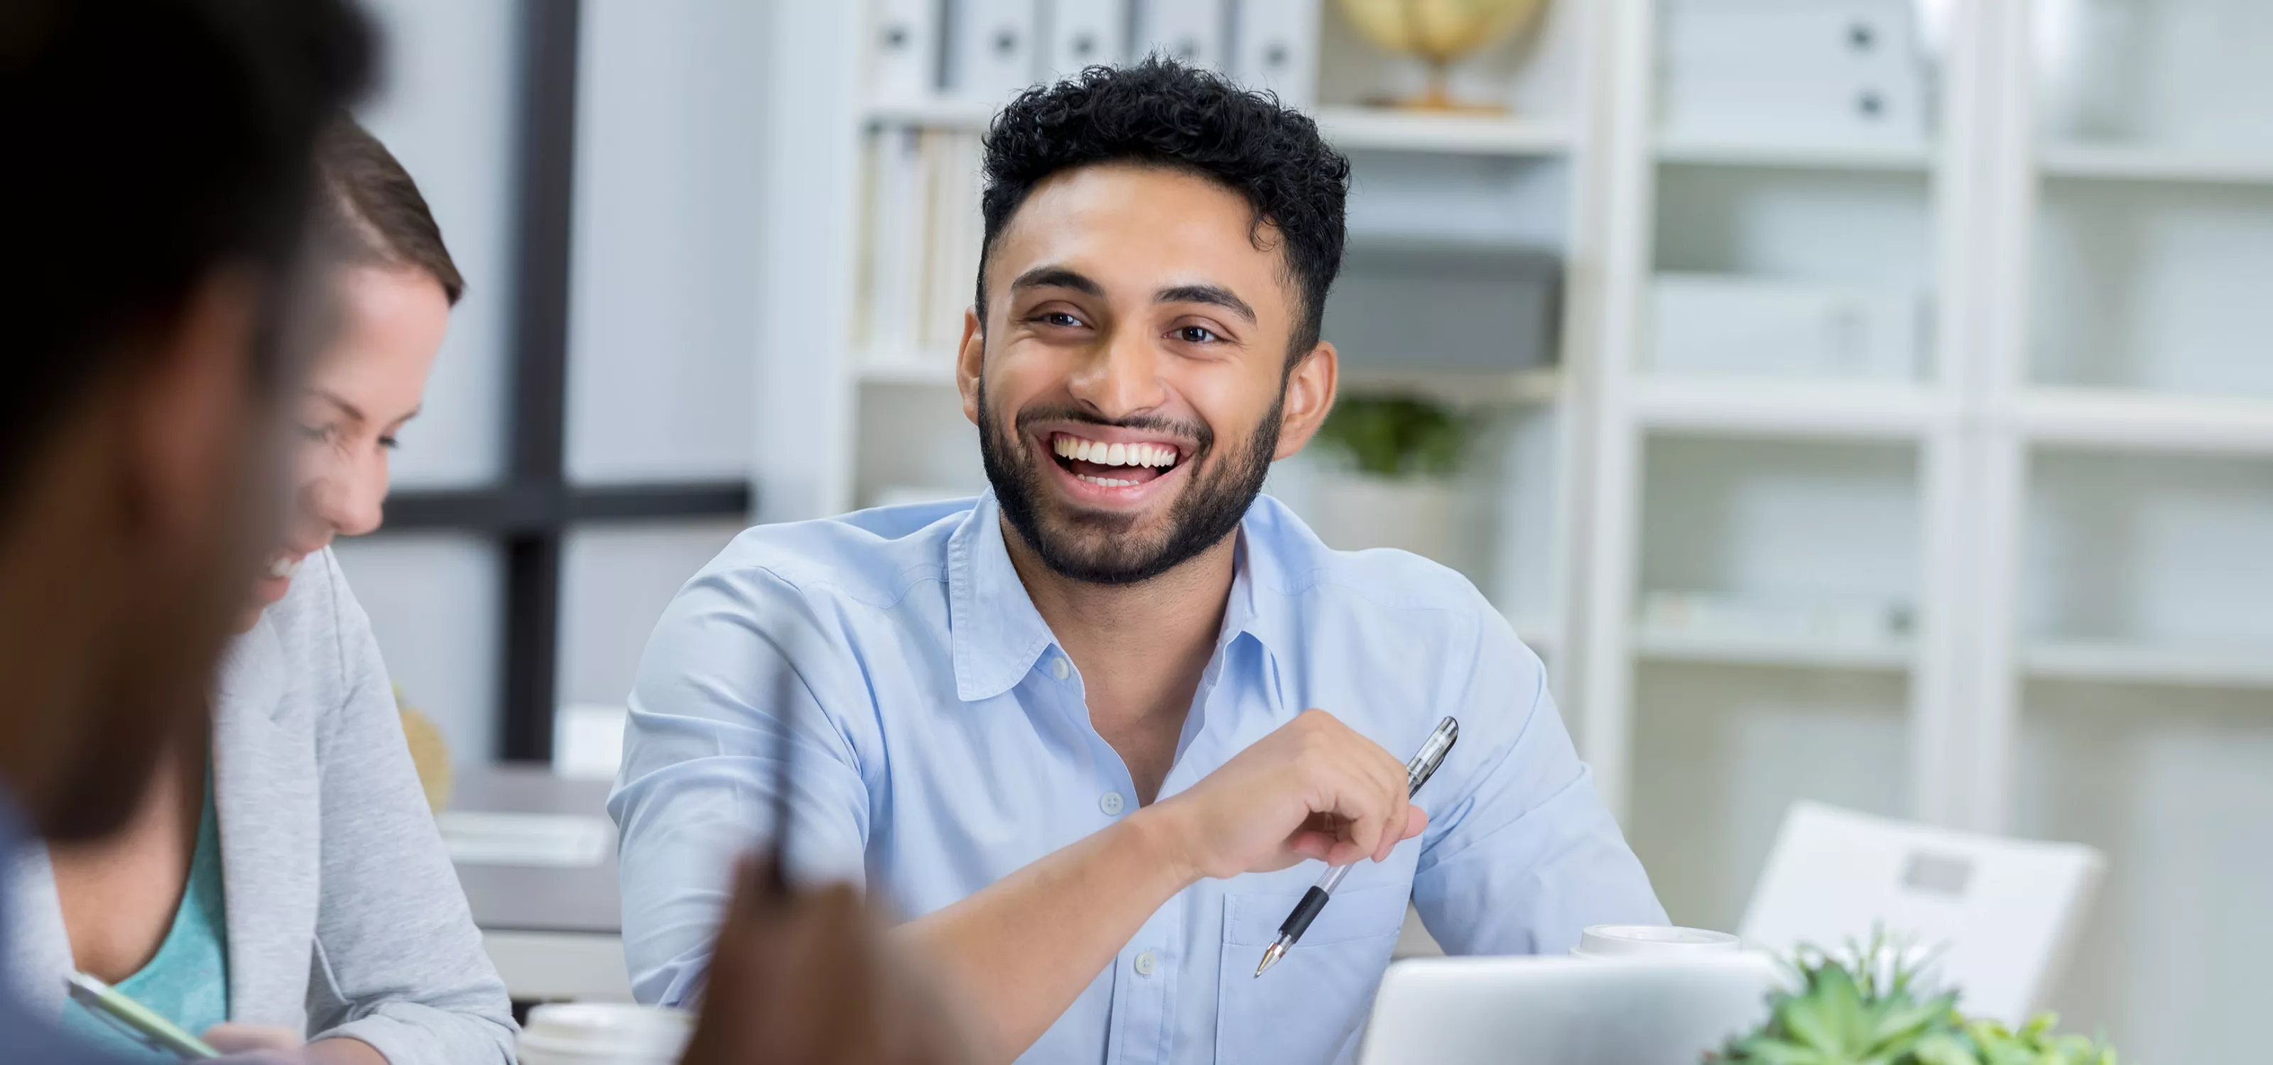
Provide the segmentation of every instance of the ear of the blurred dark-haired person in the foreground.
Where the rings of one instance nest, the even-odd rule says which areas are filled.
[[[193,540],[245,461],[252,341],[261,286],[245,270],[207,277],[125,368],[123,461],[139,534]]]

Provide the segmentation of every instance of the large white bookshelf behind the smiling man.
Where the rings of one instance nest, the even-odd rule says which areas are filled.
[[[1668,129],[1662,2],[1557,0],[1532,41],[1464,64],[1455,91],[1509,102],[1496,118],[1366,107],[1418,73],[1321,5],[1312,114],[1352,157],[1352,257],[1568,266],[1555,366],[1352,357],[1346,386],[1489,422],[1459,565],[1550,661],[1675,920],[1734,922],[1798,797],[2080,838],[2114,872],[2055,995],[2066,1026],[2139,1060],[2246,1058],[2228,1017],[2273,940],[2168,929],[2203,931],[2173,917],[2196,883],[2273,897],[2273,5],[1946,0],[1925,134],[1857,139]],[[800,159],[768,193],[777,229],[821,250],[784,252],[768,293],[768,384],[800,388],[773,406],[798,456],[773,479],[814,486],[811,513],[873,502],[907,454],[977,488],[975,456],[941,459],[971,450],[948,354],[857,338],[852,250],[861,141],[973,134],[989,109],[861,104],[859,5],[791,7],[841,41],[784,57],[798,107],[768,134]],[[2046,20],[2107,11],[2130,30],[2078,54],[2118,68],[2055,77]],[[1921,357],[1871,379],[1662,372],[1662,275],[1916,297]],[[1273,490],[1316,477],[1282,463]],[[1907,622],[1646,624],[1666,590]]]

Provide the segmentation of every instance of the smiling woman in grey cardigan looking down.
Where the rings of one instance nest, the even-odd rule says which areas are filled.
[[[377,529],[386,454],[464,291],[409,173],[334,120],[316,148],[330,329],[289,404],[284,545],[250,586],[211,731],[182,731],[127,824],[30,849],[11,965],[64,1026],[89,972],[223,1051],[507,1065],[514,1013],[425,806],[370,622],[332,559]]]

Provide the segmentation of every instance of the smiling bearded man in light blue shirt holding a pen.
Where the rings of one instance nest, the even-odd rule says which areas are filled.
[[[1259,495],[1334,402],[1346,191],[1175,64],[996,118],[957,366],[993,490],[752,529],[666,611],[609,804],[641,999],[700,995],[782,756],[796,863],[911,915],[998,1060],[1348,1058],[1407,902],[1455,954],[1664,920],[1491,604]]]

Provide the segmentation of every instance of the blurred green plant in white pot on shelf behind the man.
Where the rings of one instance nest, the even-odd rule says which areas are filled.
[[[1318,429],[1312,518],[1330,547],[1398,547],[1462,568],[1468,500],[1455,475],[1471,425],[1412,395],[1343,395]]]

